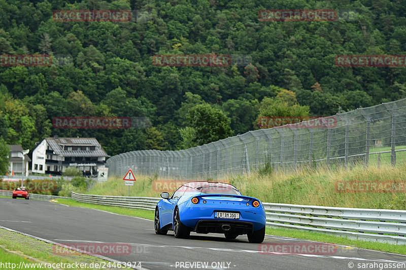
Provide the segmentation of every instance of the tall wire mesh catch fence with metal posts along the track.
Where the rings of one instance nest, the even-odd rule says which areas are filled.
[[[334,125],[320,119],[303,125],[249,131],[177,151],[141,150],[107,160],[110,175],[155,175],[167,179],[221,179],[253,170],[303,166],[380,165],[406,157],[406,99],[337,113]],[[313,121],[313,122],[312,122]]]

